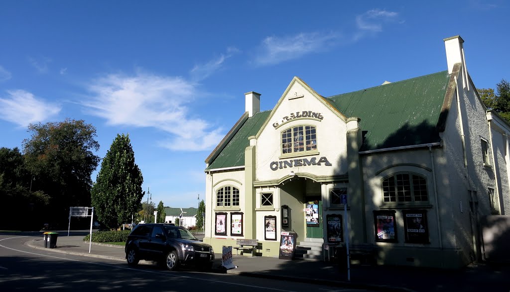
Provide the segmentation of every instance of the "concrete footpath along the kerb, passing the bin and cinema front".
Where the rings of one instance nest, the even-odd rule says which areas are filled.
[[[60,233],[57,247],[44,248],[43,235],[25,243],[35,249],[46,249],[73,255],[125,261],[123,246],[84,242],[84,235]],[[242,276],[317,283],[344,288],[379,291],[509,291],[510,265],[471,265],[462,270],[438,270],[415,267],[352,265],[350,281],[340,264],[318,260],[282,260],[276,257],[236,256],[236,269],[224,271],[221,254],[216,254],[212,272]],[[344,263],[345,265],[345,263]]]

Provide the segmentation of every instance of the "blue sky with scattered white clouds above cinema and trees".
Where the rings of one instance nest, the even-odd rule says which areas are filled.
[[[130,135],[152,201],[196,207],[246,92],[269,110],[293,76],[331,96],[443,71],[455,35],[477,88],[510,81],[507,1],[422,3],[2,1],[0,147],[83,119],[100,157]]]

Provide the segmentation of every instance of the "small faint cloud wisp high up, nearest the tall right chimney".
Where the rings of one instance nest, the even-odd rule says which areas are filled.
[[[367,33],[382,32],[382,24],[395,21],[398,18],[397,12],[372,9],[356,16],[356,28],[354,40],[359,40]]]

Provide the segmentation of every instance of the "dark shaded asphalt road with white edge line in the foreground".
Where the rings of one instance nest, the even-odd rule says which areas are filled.
[[[28,234],[28,233],[27,233]],[[39,234],[0,235],[2,291],[368,291],[195,271],[168,272],[155,264],[130,268],[125,262],[33,249]],[[40,236],[39,236],[40,237]]]

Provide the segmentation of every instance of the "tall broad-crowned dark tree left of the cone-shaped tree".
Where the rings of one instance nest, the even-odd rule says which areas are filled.
[[[96,129],[83,120],[66,119],[30,124],[28,131],[23,157],[28,173],[37,177],[32,191],[49,195],[45,220],[64,225],[70,206],[90,205],[91,174],[99,164],[93,153],[99,150]]]

